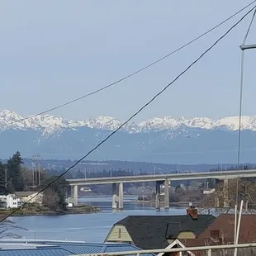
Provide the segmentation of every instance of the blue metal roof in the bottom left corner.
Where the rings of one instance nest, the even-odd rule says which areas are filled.
[[[25,241],[0,242],[1,256],[65,256],[76,254],[100,254],[118,251],[140,250],[131,244],[88,244],[74,242]],[[153,254],[147,254],[153,256]]]

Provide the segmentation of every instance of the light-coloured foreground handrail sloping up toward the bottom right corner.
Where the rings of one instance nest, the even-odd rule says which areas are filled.
[[[253,244],[225,244],[225,245],[211,245],[211,246],[199,246],[199,247],[185,247],[185,248],[173,248],[173,249],[147,249],[147,250],[135,250],[135,251],[121,251],[113,253],[101,253],[101,254],[79,254],[80,256],[122,256],[122,255],[136,255],[140,254],[160,254],[160,255],[201,255],[201,256],[226,256],[234,255],[234,251],[237,249],[237,255],[255,255],[256,243]],[[173,253],[173,254],[172,254]],[[176,253],[176,254],[175,254]],[[180,253],[180,254],[178,254]]]

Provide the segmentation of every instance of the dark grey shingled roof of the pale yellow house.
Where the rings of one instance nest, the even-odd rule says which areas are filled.
[[[215,220],[211,215],[191,216],[127,216],[115,225],[124,225],[131,239],[141,249],[162,249],[167,239],[176,239],[181,231],[192,231],[196,236]]]

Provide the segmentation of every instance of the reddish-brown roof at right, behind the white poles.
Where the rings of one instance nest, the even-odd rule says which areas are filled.
[[[187,246],[201,246],[207,244],[228,244],[234,242],[234,214],[220,214],[207,229],[198,236],[194,241],[186,241]],[[218,230],[220,239],[211,239],[211,230]],[[241,216],[239,243],[255,243],[256,242],[256,215],[244,214]]]

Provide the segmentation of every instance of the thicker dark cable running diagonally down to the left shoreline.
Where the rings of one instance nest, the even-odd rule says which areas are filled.
[[[255,6],[255,7],[256,7],[256,6]],[[55,178],[55,179],[54,179],[51,183],[49,183],[46,187],[42,188],[39,192],[37,192],[34,197],[31,197],[28,201],[26,201],[26,202],[23,204],[23,206],[26,205],[26,204],[27,204],[29,201],[31,201],[33,198],[37,197],[41,192],[44,192],[45,189],[47,189],[47,188],[50,187],[53,183],[55,183],[56,181],[58,181],[59,178],[62,178],[62,177],[63,177],[66,173],[68,173],[72,168],[74,168],[77,164],[79,164],[81,161],[83,161],[83,159],[86,159],[89,154],[92,154],[93,151],[95,151],[95,150],[96,150],[97,148],[99,148],[102,144],[104,144],[107,140],[109,140],[112,135],[115,135],[118,130],[121,130],[121,128],[122,128],[123,126],[126,126],[126,124],[127,124],[128,122],[130,122],[131,119],[133,119],[133,118],[134,118],[135,116],[137,116],[141,111],[143,111],[146,107],[148,107],[151,102],[154,102],[154,100],[155,100],[157,97],[159,97],[159,96],[160,96],[162,93],[164,93],[170,86],[172,86],[173,83],[175,83],[175,82],[178,80],[178,78],[182,77],[183,74],[186,73],[189,69],[191,69],[194,64],[197,64],[197,62],[198,62],[204,55],[206,55],[212,48],[214,48],[214,46],[217,45],[217,44],[220,42],[220,40],[222,40],[225,36],[227,36],[227,35],[230,33],[230,31],[232,31],[237,25],[239,25],[239,23],[240,23],[241,21],[243,21],[244,18],[245,18],[247,15],[249,15],[250,12],[254,11],[254,8],[255,8],[255,7],[253,7],[252,9],[250,9],[249,12],[245,13],[244,16],[241,17],[241,18],[239,19],[239,21],[237,21],[237,22],[235,23],[235,25],[231,26],[230,29],[229,29],[228,31],[226,31],[223,36],[220,36],[220,38],[219,38],[218,40],[216,40],[216,42],[215,42],[213,45],[211,45],[207,50],[205,50],[196,60],[194,60],[194,61],[192,62],[192,64],[190,64],[190,65],[187,67],[187,69],[184,69],[182,73],[179,73],[178,76],[177,76],[176,78],[174,78],[171,83],[168,83],[160,92],[158,92],[157,94],[155,94],[154,97],[152,97],[152,98],[149,100],[149,102],[146,102],[145,105],[143,105],[142,107],[140,107],[140,109],[139,109],[138,111],[136,111],[132,116],[130,116],[130,118],[128,118],[125,122],[123,122],[123,123],[121,124],[121,126],[119,126],[116,130],[112,131],[110,135],[107,135],[107,137],[106,137],[104,140],[102,140],[99,144],[97,144],[94,148],[92,148],[92,149],[91,149],[87,154],[85,154],[81,159],[78,159],[78,161],[77,161],[75,164],[71,165],[64,173],[60,174],[57,178]],[[20,208],[21,208],[21,207],[15,209],[15,210],[12,211],[11,213],[9,213],[7,216],[3,217],[2,220],[0,220],[0,222],[2,222],[3,220],[6,220],[9,216],[12,216],[12,214],[14,214],[15,212],[19,211]]]

